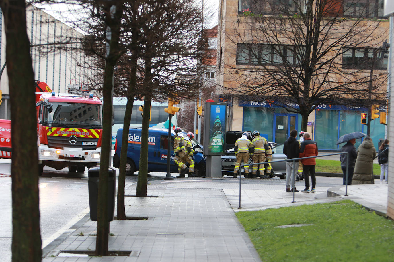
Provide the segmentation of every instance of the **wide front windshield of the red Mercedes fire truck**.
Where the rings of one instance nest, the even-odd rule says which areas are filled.
[[[51,102],[52,112],[43,111],[43,124],[75,128],[101,129],[100,104]]]

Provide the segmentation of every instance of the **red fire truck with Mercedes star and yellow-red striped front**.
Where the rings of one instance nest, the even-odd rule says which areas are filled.
[[[40,84],[36,82],[36,88]],[[40,175],[44,166],[57,170],[68,167],[70,172],[84,172],[85,167],[98,165],[102,101],[92,94],[35,94]]]

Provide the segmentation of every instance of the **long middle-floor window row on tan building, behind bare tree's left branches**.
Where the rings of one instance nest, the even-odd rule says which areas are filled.
[[[299,64],[294,46],[237,44],[237,64]]]

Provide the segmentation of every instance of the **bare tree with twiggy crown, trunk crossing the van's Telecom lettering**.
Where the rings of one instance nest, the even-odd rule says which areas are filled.
[[[201,29],[201,9],[192,0],[144,0],[137,11],[126,10],[126,15],[136,22],[138,46],[134,48],[141,72],[138,92],[144,97],[136,196],[146,196],[151,100],[195,97],[204,72],[206,37]]]

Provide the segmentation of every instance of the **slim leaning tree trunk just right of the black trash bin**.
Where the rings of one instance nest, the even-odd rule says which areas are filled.
[[[127,97],[125,119],[123,121],[121,159],[119,163],[118,176],[118,196],[116,203],[116,216],[118,219],[126,219],[125,212],[125,180],[126,180],[126,161],[128,147],[128,130],[130,128],[131,113],[133,110],[134,97]],[[116,150],[116,148],[115,148]]]

